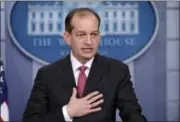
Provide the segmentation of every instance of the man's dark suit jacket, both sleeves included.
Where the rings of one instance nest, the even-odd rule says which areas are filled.
[[[68,103],[73,87],[76,85],[69,55],[39,69],[23,122],[64,122],[62,107]],[[115,122],[117,108],[123,121],[146,121],[141,115],[126,64],[97,54],[83,96],[95,90],[104,95],[102,110],[73,118],[73,122]]]

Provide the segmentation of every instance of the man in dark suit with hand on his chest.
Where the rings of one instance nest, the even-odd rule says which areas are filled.
[[[127,122],[146,122],[128,66],[97,53],[100,18],[77,8],[65,19],[65,58],[40,68],[23,122],[115,122],[116,109]]]

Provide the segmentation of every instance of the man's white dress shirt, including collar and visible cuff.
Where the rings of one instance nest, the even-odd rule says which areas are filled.
[[[78,76],[79,76],[79,73],[80,73],[80,71],[78,70],[78,68],[79,68],[80,66],[83,66],[83,64],[80,63],[80,62],[76,59],[76,57],[74,57],[74,55],[72,54],[72,52],[71,52],[71,54],[70,54],[70,60],[71,60],[72,70],[73,70],[74,77],[75,77],[75,82],[76,82],[76,85],[77,85]],[[85,74],[86,74],[87,77],[88,77],[88,75],[89,75],[89,71],[90,71],[90,69],[91,69],[91,65],[92,65],[93,60],[94,60],[94,57],[84,64],[84,66],[87,67],[87,69],[86,69],[86,71],[85,71]],[[64,115],[64,118],[65,118],[65,121],[72,121],[72,118],[70,118],[69,115],[68,115],[68,112],[67,112],[67,109],[66,109],[66,105],[62,107],[62,111],[63,111],[63,115]]]

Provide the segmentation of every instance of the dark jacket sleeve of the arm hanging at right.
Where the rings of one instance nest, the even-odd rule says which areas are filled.
[[[119,115],[125,122],[147,122],[145,116],[142,115],[142,108],[135,95],[127,65],[124,65],[123,71],[124,75],[118,85],[116,100],[120,110]]]

